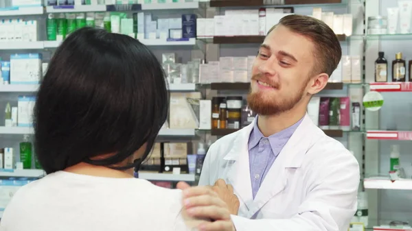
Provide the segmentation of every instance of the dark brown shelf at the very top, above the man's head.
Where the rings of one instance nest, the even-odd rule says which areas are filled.
[[[210,7],[231,7],[231,6],[262,6],[262,5],[307,5],[307,4],[328,4],[342,3],[342,0],[210,0]]]

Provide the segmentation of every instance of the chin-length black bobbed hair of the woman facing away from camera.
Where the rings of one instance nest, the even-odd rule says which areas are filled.
[[[112,167],[147,143],[146,158],[168,107],[164,71],[145,45],[104,29],[78,29],[56,50],[38,90],[38,161],[46,173],[79,162]]]

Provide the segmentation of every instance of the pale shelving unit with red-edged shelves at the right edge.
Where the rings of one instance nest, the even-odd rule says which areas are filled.
[[[398,7],[398,1],[365,1],[365,28],[369,16],[387,16],[388,8]],[[402,9],[400,9],[402,10]],[[401,18],[400,18],[401,19]],[[399,24],[399,21],[398,21]],[[398,29],[398,33],[399,33]],[[384,104],[376,112],[365,111],[365,178],[363,186],[368,199],[369,226],[374,230],[389,230],[390,221],[412,223],[409,199],[411,188],[411,142],[412,124],[409,108],[412,91],[411,82],[391,82],[392,66],[395,53],[402,52],[403,58],[411,59],[411,51],[404,49],[409,44],[411,34],[366,34],[365,29],[365,79],[369,86],[366,90],[379,92]],[[388,61],[388,82],[375,82],[375,65],[378,52],[384,51]],[[409,76],[409,70],[407,70]],[[408,81],[408,79],[407,79]],[[411,81],[411,80],[409,80]],[[404,168],[407,179],[395,182],[389,180],[391,145],[400,149],[400,166]],[[379,177],[375,177],[379,176]],[[404,230],[400,228],[400,230]],[[411,230],[408,228],[407,230]]]

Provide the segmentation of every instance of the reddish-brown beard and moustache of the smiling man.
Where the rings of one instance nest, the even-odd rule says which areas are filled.
[[[253,75],[252,80],[262,80],[262,82],[265,82],[266,84],[273,86],[273,88],[280,90],[280,85],[278,83],[271,82],[262,74]],[[301,86],[301,89],[297,93],[290,93],[291,95],[287,99],[270,99],[270,96],[268,96],[270,93],[265,93],[265,90],[252,93],[251,89],[249,95],[247,96],[247,103],[253,112],[263,116],[286,112],[299,103],[301,98],[304,96],[304,90],[308,82],[309,79]]]

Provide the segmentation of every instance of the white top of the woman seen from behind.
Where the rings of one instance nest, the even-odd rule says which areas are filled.
[[[182,195],[136,178],[58,171],[23,186],[0,221],[1,231],[192,231]]]

